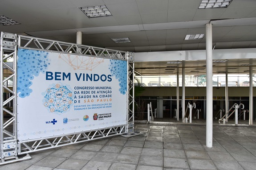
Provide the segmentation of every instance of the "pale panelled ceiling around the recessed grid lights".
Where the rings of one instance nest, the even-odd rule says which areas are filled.
[[[185,51],[205,49],[205,37],[201,40],[184,38],[187,34],[205,34],[205,24],[211,21],[214,49],[256,48],[256,0],[233,0],[228,8],[215,9],[198,9],[200,2],[1,0],[0,15],[20,24],[0,25],[0,31],[70,43],[76,43],[76,32],[80,31],[82,44],[89,46],[133,52]],[[78,8],[103,4],[106,4],[113,16],[88,18]],[[114,43],[111,40],[125,37],[129,37],[131,42]],[[239,62],[229,59],[228,64],[217,63],[214,71],[226,71],[228,66],[236,68]],[[186,73],[201,71],[195,73],[203,74],[206,72],[203,65],[206,65],[205,60],[186,62]],[[142,75],[167,75],[173,71],[166,70],[171,69],[167,68],[166,62],[157,61],[135,63],[135,68]],[[248,71],[248,68],[228,69],[229,72],[231,70],[241,74]]]

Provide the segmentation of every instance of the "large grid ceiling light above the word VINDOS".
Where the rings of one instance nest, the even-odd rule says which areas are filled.
[[[97,18],[104,16],[112,16],[106,5],[97,5],[89,7],[78,7],[88,18]]]

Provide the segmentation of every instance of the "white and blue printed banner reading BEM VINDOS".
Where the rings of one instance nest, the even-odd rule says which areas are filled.
[[[127,61],[19,49],[18,140],[127,123]]]

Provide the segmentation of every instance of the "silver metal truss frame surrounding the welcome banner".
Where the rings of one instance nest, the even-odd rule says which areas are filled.
[[[75,43],[66,43],[55,40],[47,40],[30,36],[18,36],[12,33],[1,32],[0,37],[0,165],[30,159],[29,153],[47,150],[55,147],[81,143],[110,136],[129,134],[134,132],[134,53],[117,51],[101,47],[92,47]],[[127,124],[81,131],[72,134],[51,136],[26,141],[18,141],[17,138],[17,50],[18,48],[40,51],[54,51],[108,59],[121,59],[127,61]],[[13,57],[13,65],[10,67],[4,62]],[[11,72],[4,75],[4,69]],[[7,87],[9,79],[13,79],[13,88]],[[4,101],[4,91],[12,93],[12,97]],[[13,109],[7,109],[7,103],[12,102]],[[8,116],[6,116],[8,115]],[[27,154],[24,158],[19,155]]]

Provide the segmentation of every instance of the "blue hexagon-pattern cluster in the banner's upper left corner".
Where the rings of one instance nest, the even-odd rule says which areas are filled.
[[[24,98],[32,93],[29,87],[33,83],[30,80],[40,72],[45,73],[50,62],[46,51],[18,49],[18,57],[17,92],[20,92],[19,97]]]

